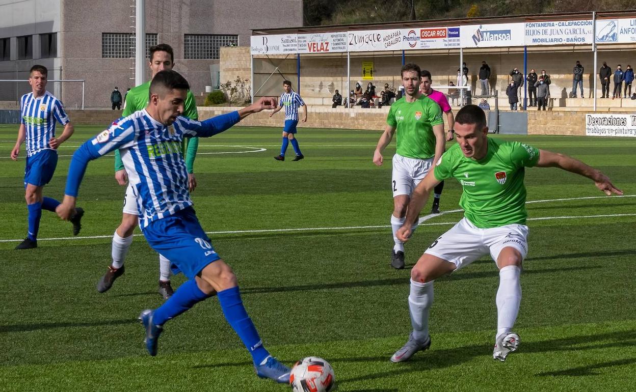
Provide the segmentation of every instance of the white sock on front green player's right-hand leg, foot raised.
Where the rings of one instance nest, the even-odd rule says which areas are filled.
[[[507,266],[499,270],[497,290],[497,337],[510,332],[521,304],[521,268]],[[412,287],[412,283],[411,283]],[[411,289],[412,290],[412,289]]]

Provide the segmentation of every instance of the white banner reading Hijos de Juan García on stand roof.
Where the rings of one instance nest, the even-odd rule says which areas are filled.
[[[529,22],[525,24],[525,44],[528,46],[591,44],[592,26],[592,20]]]

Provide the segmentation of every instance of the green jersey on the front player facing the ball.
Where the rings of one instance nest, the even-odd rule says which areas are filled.
[[[459,200],[464,216],[475,226],[489,229],[525,224],[525,167],[538,161],[539,150],[530,145],[488,138],[484,158],[466,158],[455,144],[436,163],[434,174],[439,181],[455,177],[464,190]]]

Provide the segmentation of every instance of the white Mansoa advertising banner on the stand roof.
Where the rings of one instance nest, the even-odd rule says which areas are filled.
[[[462,48],[495,48],[525,45],[525,23],[467,25],[460,27]]]

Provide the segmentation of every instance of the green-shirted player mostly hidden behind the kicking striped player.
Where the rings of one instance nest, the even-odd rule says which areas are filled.
[[[174,67],[174,51],[169,44],[158,44],[150,48],[150,61],[148,62],[152,72],[152,78],[160,71],[170,71]],[[126,102],[123,109],[122,117],[130,116],[136,111],[140,111],[146,107],[149,98],[150,81],[133,88],[128,91]],[[197,104],[195,97],[191,91],[188,91],[186,101],[184,102],[183,116],[197,120]],[[193,137],[186,146],[183,145],[186,154],[186,170],[188,172],[188,187],[190,192],[197,187],[197,179],[193,173],[193,165],[195,155],[197,154],[198,138]],[[119,150],[115,151],[115,179],[121,186],[125,186],[128,180],[128,174],[124,170],[123,162]],[[124,273],[123,261],[128,253],[130,244],[132,243],[132,233],[137,227],[137,195],[135,195],[133,187],[128,184],[126,195],[123,203],[123,214],[120,226],[117,227],[113,235],[113,245],[111,255],[113,262],[108,266],[106,274],[97,282],[97,291],[106,292],[112,287],[113,281]],[[160,276],[159,276],[159,294],[163,299],[168,299],[172,294],[172,286],[170,285],[170,260],[159,255]]]

